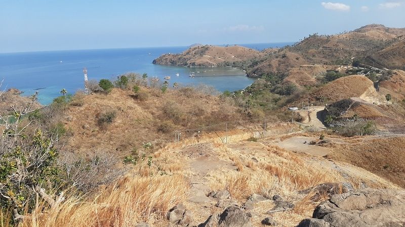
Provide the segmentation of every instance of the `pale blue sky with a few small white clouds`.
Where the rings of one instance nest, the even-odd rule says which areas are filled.
[[[0,0],[0,52],[298,41],[405,27],[405,0]]]

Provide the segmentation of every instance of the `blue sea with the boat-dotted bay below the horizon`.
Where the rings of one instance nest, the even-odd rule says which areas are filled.
[[[239,45],[262,50],[290,44],[292,42]],[[115,80],[120,74],[135,72],[147,73],[148,77],[158,77],[161,81],[165,76],[170,76],[171,84],[207,84],[218,91],[244,89],[253,83],[254,79],[246,77],[244,71],[235,68],[190,69],[152,64],[161,54],[179,53],[187,48],[180,46],[0,53],[0,80],[4,79],[1,89],[17,88],[27,96],[38,91],[39,102],[49,104],[61,95],[59,92],[63,88],[68,93],[84,89],[85,67],[89,80]],[[189,77],[190,71],[195,73],[194,78]]]

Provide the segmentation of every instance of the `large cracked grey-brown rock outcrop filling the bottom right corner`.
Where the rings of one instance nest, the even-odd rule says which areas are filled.
[[[299,224],[300,227],[404,225],[405,191],[371,188],[332,195],[315,208],[313,218]]]

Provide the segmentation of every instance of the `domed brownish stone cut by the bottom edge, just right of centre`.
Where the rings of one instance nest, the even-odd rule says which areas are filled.
[[[218,227],[252,227],[252,223],[240,207],[230,206],[219,215]]]

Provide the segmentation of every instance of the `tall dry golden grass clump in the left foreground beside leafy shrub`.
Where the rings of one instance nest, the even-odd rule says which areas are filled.
[[[174,184],[175,182],[175,184]],[[69,197],[57,208],[39,207],[23,227],[133,226],[137,222],[163,223],[168,210],[185,199],[188,184],[183,176],[125,177],[93,201]],[[40,215],[41,214],[41,215]]]

